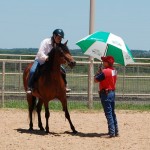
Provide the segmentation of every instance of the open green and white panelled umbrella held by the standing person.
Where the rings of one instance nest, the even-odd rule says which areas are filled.
[[[76,44],[84,54],[99,60],[102,56],[113,56],[116,63],[124,66],[134,62],[131,51],[123,39],[110,32],[95,32]]]

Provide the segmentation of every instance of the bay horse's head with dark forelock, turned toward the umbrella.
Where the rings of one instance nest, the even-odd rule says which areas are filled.
[[[76,62],[67,47],[67,42],[54,45],[53,52],[55,52],[55,57],[57,57],[59,64],[68,64],[70,68],[73,68],[76,65]],[[49,54],[49,57],[52,57],[52,55]]]

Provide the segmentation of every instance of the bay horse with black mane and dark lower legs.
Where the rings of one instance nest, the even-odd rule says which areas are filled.
[[[65,117],[68,119],[70,127],[74,134],[77,133],[74,125],[70,119],[70,114],[67,107],[66,85],[61,75],[60,67],[62,64],[67,63],[70,68],[73,68],[76,64],[75,60],[71,56],[71,53],[65,44],[54,46],[51,52],[48,54],[48,61],[40,66],[40,75],[34,82],[34,88],[31,94],[27,94],[28,111],[29,111],[29,130],[33,130],[32,112],[36,108],[38,115],[38,126],[40,130],[44,130],[41,121],[41,109],[44,104],[45,118],[46,118],[46,133],[49,133],[49,101],[57,98],[60,100]],[[23,72],[23,84],[24,89],[27,91],[29,72],[32,63],[29,64]],[[36,73],[35,73],[36,74]],[[37,101],[38,98],[38,101]]]

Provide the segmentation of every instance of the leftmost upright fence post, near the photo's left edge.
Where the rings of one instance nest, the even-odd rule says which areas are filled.
[[[5,101],[5,62],[3,61],[3,67],[2,67],[2,107],[4,107],[4,101]]]

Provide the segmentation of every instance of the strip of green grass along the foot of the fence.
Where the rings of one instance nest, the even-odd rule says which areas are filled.
[[[26,101],[10,101],[5,103],[4,108],[27,109],[28,105]],[[49,108],[50,110],[60,111],[62,110],[62,105],[59,101],[51,101],[49,103]],[[87,106],[87,102],[68,102],[68,109],[79,110],[79,111],[89,110]],[[94,102],[92,110],[102,110],[102,105],[100,104],[100,102]],[[150,111],[150,104],[117,103],[116,110]]]

